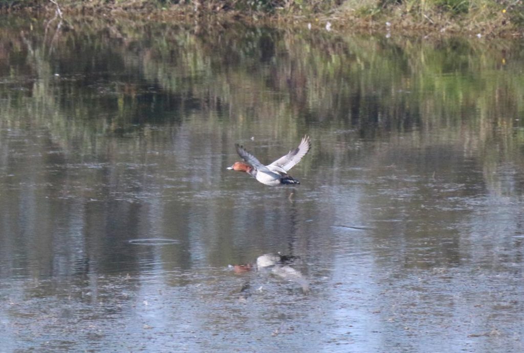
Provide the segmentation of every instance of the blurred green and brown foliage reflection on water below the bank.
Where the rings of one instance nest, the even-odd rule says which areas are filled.
[[[0,107],[3,124],[19,124],[14,107],[32,102],[24,119],[46,122],[64,145],[72,131],[201,124],[190,117],[202,112],[210,129],[263,124],[272,134],[296,135],[305,123],[363,137],[438,129],[442,138],[466,134],[483,145],[495,126],[513,144],[522,139],[512,132],[521,131],[515,119],[524,113],[522,49],[514,43],[500,43],[501,51],[459,39],[395,42],[125,21],[79,21],[53,41],[52,32],[45,40],[36,29],[20,37],[13,33],[25,24],[9,26],[0,29],[2,38],[17,39],[10,39],[0,73],[27,82],[0,87],[10,102]]]

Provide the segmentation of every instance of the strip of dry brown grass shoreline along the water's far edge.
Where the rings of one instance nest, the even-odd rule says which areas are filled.
[[[24,5],[15,2],[0,6],[0,14],[42,15],[49,19],[67,17],[100,16],[101,18],[128,18],[179,23],[228,23],[242,21],[250,25],[266,25],[287,28],[324,29],[335,32],[364,32],[367,34],[385,34],[394,32],[402,36],[463,36],[477,38],[524,38],[524,27],[511,20],[511,12],[505,8],[484,18],[479,14],[450,16],[444,12],[409,13],[405,6],[397,5],[385,8],[379,14],[366,13],[362,8],[335,7],[331,10],[316,11],[291,10],[276,8],[272,12],[237,10],[221,6],[198,6],[170,4],[159,6],[156,0],[123,0],[118,3],[105,3],[103,0],[74,2],[73,0],[30,0]],[[217,1],[210,4],[216,5]],[[364,2],[365,3],[365,2]],[[500,6],[504,7],[504,6]],[[524,4],[521,5],[524,9]],[[53,17],[54,16],[54,17]],[[471,17],[477,17],[472,20]],[[519,15],[522,16],[522,15]],[[524,22],[524,19],[523,19]]]

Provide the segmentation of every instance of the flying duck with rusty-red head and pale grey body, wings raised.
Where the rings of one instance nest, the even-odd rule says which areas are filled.
[[[286,156],[282,156],[276,161],[264,166],[260,161],[253,156],[251,153],[246,151],[244,147],[235,145],[238,155],[244,159],[245,162],[235,162],[233,166],[227,169],[235,170],[239,172],[246,172],[259,182],[269,185],[286,185],[286,184],[300,184],[297,179],[293,179],[288,175],[288,170],[293,168],[295,164],[300,162],[302,157],[307,155],[311,148],[311,140],[309,136],[304,136],[300,145],[289,151]],[[249,164],[248,164],[249,163]]]

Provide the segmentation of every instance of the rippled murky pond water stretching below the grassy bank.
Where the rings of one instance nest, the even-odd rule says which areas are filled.
[[[0,351],[524,350],[519,43],[57,28],[0,28]]]

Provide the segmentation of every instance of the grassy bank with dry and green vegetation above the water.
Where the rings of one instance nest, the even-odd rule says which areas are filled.
[[[205,18],[327,30],[522,37],[524,0],[0,0],[7,12]]]

